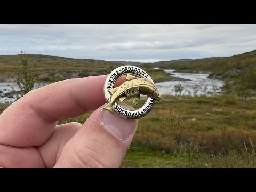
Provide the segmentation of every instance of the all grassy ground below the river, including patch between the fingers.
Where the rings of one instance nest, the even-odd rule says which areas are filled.
[[[256,167],[256,98],[163,99],[139,120],[122,167]],[[59,124],[83,123],[92,112]]]

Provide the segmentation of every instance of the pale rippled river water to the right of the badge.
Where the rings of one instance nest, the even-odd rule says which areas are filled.
[[[169,81],[156,83],[156,86],[160,94],[172,94],[176,95],[177,93],[174,90],[174,86],[179,83],[185,89],[181,92],[181,95],[195,95],[195,91],[198,89],[196,95],[212,95],[219,94],[221,92],[220,87],[222,86],[223,81],[217,79],[209,79],[209,73],[178,73],[173,72],[174,70],[165,70],[167,73],[173,74],[172,77],[179,77],[182,79],[188,79],[190,81]],[[197,89],[193,87],[197,86]]]

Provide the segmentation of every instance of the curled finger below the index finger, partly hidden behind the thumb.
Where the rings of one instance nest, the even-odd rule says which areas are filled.
[[[0,167],[53,167],[63,146],[78,131],[80,123],[58,125],[40,147],[13,147],[0,145]]]

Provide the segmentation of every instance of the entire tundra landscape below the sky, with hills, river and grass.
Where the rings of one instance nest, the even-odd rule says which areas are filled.
[[[139,119],[122,167],[256,167],[256,50],[153,63],[2,55],[0,113],[22,94],[17,79],[24,56],[33,69],[34,89],[63,79],[106,75],[122,65],[147,71],[162,100]],[[143,102],[141,98],[139,105]],[[58,124],[84,123],[92,112]]]

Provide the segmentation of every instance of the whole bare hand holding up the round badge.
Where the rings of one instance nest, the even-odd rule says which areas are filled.
[[[12,103],[0,115],[0,167],[120,167],[138,120],[102,110],[106,77],[52,83]],[[57,125],[89,110],[83,125]]]

